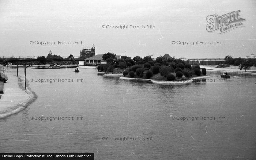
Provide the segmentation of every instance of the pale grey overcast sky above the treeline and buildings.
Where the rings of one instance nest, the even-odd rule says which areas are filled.
[[[206,17],[241,10],[243,26],[208,33]],[[102,25],[154,25],[154,29],[106,29]],[[255,54],[255,0],[51,1],[0,0],[0,56],[80,56],[93,44],[96,54],[141,57],[224,58]],[[83,41],[83,45],[35,45],[30,41]],[[172,41],[225,41],[225,45],[173,45]]]

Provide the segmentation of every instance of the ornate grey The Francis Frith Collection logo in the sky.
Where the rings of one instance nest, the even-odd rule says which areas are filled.
[[[220,33],[225,33],[234,28],[244,27],[243,20],[239,15],[240,10],[232,11],[223,15],[208,15],[206,20],[209,24],[206,25],[208,32],[219,30]]]

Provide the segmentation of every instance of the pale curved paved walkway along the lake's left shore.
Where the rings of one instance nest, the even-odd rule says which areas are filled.
[[[0,99],[0,118],[18,113],[36,98],[32,92],[20,88],[17,76],[10,73],[5,75],[7,75],[8,81],[4,83],[4,94]]]

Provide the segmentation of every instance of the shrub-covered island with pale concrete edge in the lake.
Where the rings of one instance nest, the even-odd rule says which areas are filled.
[[[105,57],[104,57],[105,55]],[[115,54],[103,55],[107,64],[97,66],[99,72],[105,72],[105,76],[123,76],[127,80],[146,80],[163,84],[188,83],[189,80],[206,78],[206,69],[200,68],[198,63],[193,66],[180,59],[175,59],[165,54],[155,60],[151,56],[141,58],[136,56],[115,58]],[[114,73],[114,74],[113,74]],[[168,83],[169,82],[169,83]]]

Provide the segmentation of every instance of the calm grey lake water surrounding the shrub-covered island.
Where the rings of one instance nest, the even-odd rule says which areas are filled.
[[[94,153],[95,160],[256,159],[256,76],[236,74],[216,82],[220,73],[208,72],[215,82],[157,85],[103,77],[95,69],[79,71],[27,69],[38,98],[0,119],[0,153]],[[200,116],[215,120],[177,120]]]

